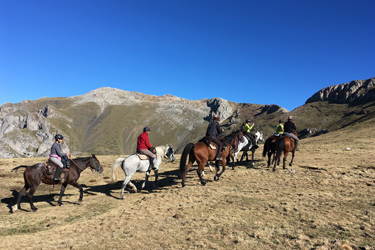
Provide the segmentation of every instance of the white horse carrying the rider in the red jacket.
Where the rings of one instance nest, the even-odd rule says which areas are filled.
[[[158,170],[162,162],[162,157],[169,158],[171,162],[175,160],[175,157],[174,157],[173,147],[169,144],[158,146],[155,149],[156,149],[156,158],[154,159],[153,170],[155,174],[155,183],[156,183],[158,180]],[[128,184],[133,188],[135,192],[138,191],[137,187],[130,181],[130,179],[136,172],[142,172],[142,173],[146,172],[146,179],[142,183],[142,189],[145,187],[146,182],[148,181],[148,177],[150,176],[150,172],[151,172],[150,161],[148,159],[141,160],[139,156],[136,154],[129,155],[126,158],[117,158],[115,162],[113,163],[112,169],[111,169],[111,173],[112,173],[111,181],[112,182],[116,181],[117,179],[116,169],[120,166],[122,167],[125,173],[125,180],[121,188],[121,197],[125,199],[124,190]]]

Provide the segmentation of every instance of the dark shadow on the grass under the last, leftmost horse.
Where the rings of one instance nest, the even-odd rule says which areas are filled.
[[[12,191],[13,197],[1,199],[1,203],[4,203],[7,205],[7,208],[9,209],[10,213],[13,212],[12,206],[16,205],[17,197],[19,193],[17,190],[14,190],[14,189],[11,191]],[[60,195],[60,190],[56,191],[55,193],[33,196],[33,202],[34,203],[47,202],[49,205],[56,207],[57,205],[54,204],[54,202],[57,202],[57,200],[55,200],[55,197],[58,198],[59,195]],[[72,194],[64,194],[64,196],[72,196]],[[74,202],[69,202],[69,201],[63,201],[63,203],[76,204]],[[27,196],[22,196],[21,204],[22,204],[22,207],[29,206],[29,198]],[[25,212],[32,211],[31,209],[25,209],[25,208],[20,208],[19,210],[25,211]]]

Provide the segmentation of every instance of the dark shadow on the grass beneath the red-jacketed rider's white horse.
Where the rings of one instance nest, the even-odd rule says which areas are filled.
[[[142,191],[148,191],[148,193],[156,192],[157,190],[162,190],[170,186],[177,185],[176,180],[179,179],[179,171],[178,170],[171,170],[166,172],[159,172],[159,178],[157,181],[157,186],[154,188],[154,179],[153,176],[149,178],[149,181],[146,183],[146,186],[142,189],[141,186],[144,182],[144,179],[139,180],[131,180],[131,182],[137,187],[138,192]],[[85,184],[82,184],[81,186],[85,188],[83,190],[83,193],[89,194],[89,195],[96,195],[95,193],[102,193],[109,197],[122,200],[122,198],[114,196],[113,191],[119,190],[122,188],[122,181],[117,181],[115,183],[107,183],[104,185],[97,185],[97,186],[87,186]],[[133,192],[133,190],[127,186],[127,191]]]

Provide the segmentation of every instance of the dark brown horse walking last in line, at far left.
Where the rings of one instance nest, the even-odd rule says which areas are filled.
[[[25,172],[23,173],[25,186],[18,193],[17,203],[15,206],[13,206],[13,212],[17,209],[21,209],[21,198],[22,196],[26,195],[28,189],[30,189],[27,196],[29,197],[31,210],[33,210],[34,212],[38,210],[34,206],[33,195],[41,182],[47,185],[57,185],[61,183],[60,197],[57,202],[60,206],[62,206],[61,199],[64,195],[65,188],[68,184],[79,189],[80,195],[78,201],[81,202],[83,197],[83,189],[81,185],[79,185],[77,182],[81,175],[81,172],[85,170],[87,167],[90,167],[91,171],[97,171],[99,173],[102,173],[103,168],[95,155],[92,155],[90,157],[76,158],[71,161],[72,163],[70,164],[70,169],[69,171],[64,172],[64,177],[61,181],[53,180],[54,172],[48,168],[48,166],[51,164],[37,163],[33,166],[18,166],[16,168],[13,168],[12,171],[17,171],[20,168],[26,168]]]

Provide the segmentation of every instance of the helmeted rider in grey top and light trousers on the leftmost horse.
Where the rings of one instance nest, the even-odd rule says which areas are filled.
[[[70,153],[62,153],[61,152],[61,142],[63,141],[64,137],[60,134],[55,135],[55,142],[52,144],[51,147],[51,154],[49,155],[49,160],[55,163],[58,167],[56,168],[54,180],[59,181],[61,180],[61,172],[63,168],[66,167],[67,169],[70,168],[70,161],[68,157],[70,157]]]

